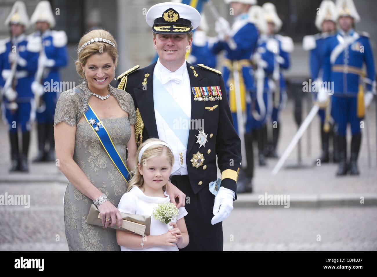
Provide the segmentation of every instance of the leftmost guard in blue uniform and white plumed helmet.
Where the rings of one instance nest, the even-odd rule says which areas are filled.
[[[25,3],[14,3],[5,20],[11,37],[0,41],[0,86],[2,86],[3,119],[8,125],[12,165],[10,171],[28,171],[31,122],[34,120],[31,83],[37,70],[38,44],[24,34],[29,25]],[[22,132],[22,151],[18,145]]]

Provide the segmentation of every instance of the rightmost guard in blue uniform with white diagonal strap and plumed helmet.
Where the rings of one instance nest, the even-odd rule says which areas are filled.
[[[365,107],[373,99],[375,69],[369,36],[354,30],[360,17],[352,0],[336,2],[336,20],[339,31],[326,38],[323,45],[323,81],[329,83],[331,115],[336,123],[339,143],[337,175],[359,174],[357,158],[361,144],[361,120]],[[366,65],[365,74],[363,64]],[[365,91],[365,92],[364,92]],[[351,125],[351,155],[347,164],[346,127]]]

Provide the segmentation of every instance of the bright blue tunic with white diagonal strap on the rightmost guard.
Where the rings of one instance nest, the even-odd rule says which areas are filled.
[[[375,84],[372,48],[366,33],[342,30],[326,38],[323,45],[323,81],[334,82],[335,96],[356,97],[363,63],[366,65],[366,91]]]

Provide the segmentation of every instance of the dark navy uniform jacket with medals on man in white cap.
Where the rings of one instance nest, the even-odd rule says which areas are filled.
[[[140,112],[144,123],[143,141],[152,137],[158,138],[153,108],[153,70],[155,66],[156,63],[153,63],[145,68],[134,68],[118,77],[118,82],[122,83],[124,81],[124,85],[122,86],[121,84],[121,89],[124,89],[132,96],[135,102],[135,109]],[[194,69],[190,68],[191,66]],[[209,183],[217,179],[217,156],[218,166],[222,173],[221,186],[236,193],[236,180],[241,165],[241,141],[233,127],[221,72],[214,69],[204,69],[190,63],[187,63],[187,70],[191,87],[220,86],[222,92],[222,100],[215,101],[194,101],[194,95],[191,95],[191,120],[204,119],[204,130],[208,134],[208,142],[205,147],[199,148],[199,143],[195,143],[197,141],[195,136],[198,135],[198,130],[190,129],[186,154],[187,165],[192,165],[190,160],[193,154],[197,152],[204,154],[203,166],[198,169],[193,166],[187,166],[190,185],[195,194],[203,188],[208,189]],[[145,74],[149,74],[146,86],[143,85]],[[143,87],[146,90],[143,90]],[[118,88],[120,87],[118,86]],[[218,105],[218,107],[213,111],[205,109],[205,107],[213,107],[215,105]],[[138,140],[137,137],[136,139]],[[206,167],[204,167],[205,165]],[[225,176],[228,177],[224,178]],[[237,199],[237,195],[235,195],[235,199]]]

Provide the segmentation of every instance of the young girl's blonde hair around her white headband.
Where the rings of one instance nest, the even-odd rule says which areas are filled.
[[[145,142],[141,143],[141,145],[138,148],[138,151],[136,152],[135,170],[131,171],[131,174],[133,176],[132,176],[132,179],[128,182],[128,188],[126,192],[129,192],[133,186],[137,186],[141,190],[143,190],[142,186],[144,185],[144,179],[143,179],[143,175],[141,175],[138,170],[139,153],[140,153],[141,148],[143,148],[143,146],[145,146],[147,143],[150,143],[150,142],[164,142],[164,141],[159,140],[158,138],[149,138]],[[155,145],[149,146],[143,152],[143,155],[141,155],[140,166],[143,166],[143,164],[145,162],[148,162],[148,160],[154,159],[164,154],[166,154],[170,166],[173,167],[173,163],[174,163],[173,153],[172,151],[170,151],[170,149],[167,146],[162,145],[162,144],[155,144]],[[166,189],[166,185],[164,185],[163,188]]]

